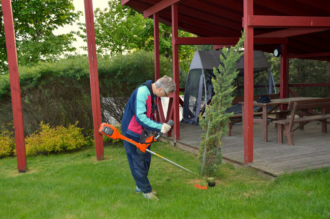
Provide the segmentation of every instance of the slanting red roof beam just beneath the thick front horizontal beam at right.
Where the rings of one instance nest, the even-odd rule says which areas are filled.
[[[329,28],[289,28],[281,31],[267,32],[254,37],[290,37],[305,35],[313,32],[327,31]]]

